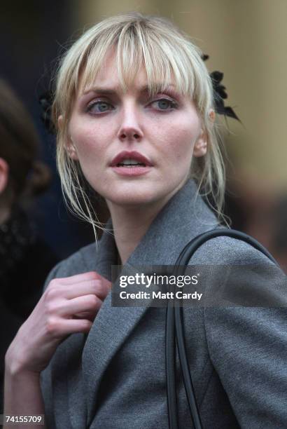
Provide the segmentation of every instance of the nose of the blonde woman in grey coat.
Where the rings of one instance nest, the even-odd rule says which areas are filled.
[[[124,107],[123,116],[121,118],[120,128],[118,130],[118,138],[125,141],[140,141],[143,137],[143,132],[139,124],[139,112],[134,107]]]

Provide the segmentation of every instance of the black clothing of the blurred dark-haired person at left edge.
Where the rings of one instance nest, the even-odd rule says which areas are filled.
[[[0,414],[6,350],[36,306],[43,282],[57,261],[22,210],[15,210],[13,216],[0,225]]]

